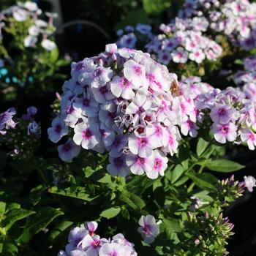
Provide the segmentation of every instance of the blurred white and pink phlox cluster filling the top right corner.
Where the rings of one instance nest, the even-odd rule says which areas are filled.
[[[187,0],[179,17],[207,18],[209,31],[225,34],[244,50],[256,47],[256,4],[248,0]]]

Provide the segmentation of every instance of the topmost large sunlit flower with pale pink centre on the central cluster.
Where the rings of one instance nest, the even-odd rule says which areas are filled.
[[[145,88],[148,87],[145,67],[132,59],[124,63],[124,77],[127,78],[136,89],[139,89],[141,86]]]

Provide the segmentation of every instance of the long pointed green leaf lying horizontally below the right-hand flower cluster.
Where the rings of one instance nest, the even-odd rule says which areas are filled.
[[[238,164],[238,162],[233,162],[227,159],[216,159],[210,160],[206,164],[209,170],[214,170],[220,173],[231,173],[236,170],[241,170],[244,168],[244,165]]]

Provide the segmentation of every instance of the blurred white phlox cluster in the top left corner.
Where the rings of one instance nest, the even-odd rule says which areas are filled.
[[[55,42],[53,42],[50,37],[55,31],[53,26],[53,18],[57,17],[56,13],[45,12],[48,16],[48,23],[45,20],[39,18],[42,15],[42,10],[39,9],[37,3],[32,1],[26,1],[25,3],[18,3],[17,5],[12,5],[7,10],[0,12],[0,39],[1,39],[1,29],[5,26],[10,26],[12,19],[19,23],[30,23],[31,26],[27,31],[27,36],[24,38],[23,44],[25,47],[37,47],[37,42],[41,40],[40,45],[45,50],[51,51],[56,48]]]

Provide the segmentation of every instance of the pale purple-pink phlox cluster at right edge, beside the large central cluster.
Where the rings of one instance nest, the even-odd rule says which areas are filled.
[[[194,78],[195,80],[195,78]],[[190,83],[197,111],[197,126],[211,128],[214,139],[219,143],[245,143],[249,149],[256,146],[256,111],[255,102],[246,97],[246,86],[243,88],[227,87],[214,89],[204,86],[203,92],[198,89],[202,83]],[[182,89],[182,86],[181,86]],[[202,89],[202,88],[201,88]],[[189,90],[188,90],[189,91]],[[197,94],[197,95],[196,95]]]

